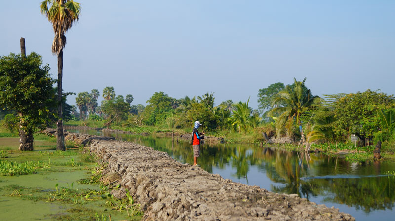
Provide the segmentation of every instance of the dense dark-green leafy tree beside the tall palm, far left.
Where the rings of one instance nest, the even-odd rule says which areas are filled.
[[[33,150],[33,133],[49,120],[53,83],[49,66],[42,66],[41,56],[34,52],[0,58],[0,107],[18,114],[20,150]]]

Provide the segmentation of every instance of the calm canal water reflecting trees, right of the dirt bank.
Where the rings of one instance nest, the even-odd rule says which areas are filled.
[[[104,133],[95,130],[70,132],[105,135],[167,152],[181,163],[193,163],[188,142],[171,138]],[[296,193],[317,204],[334,206],[357,221],[394,221],[394,161],[351,163],[343,157],[299,153],[245,144],[202,144],[198,164],[223,178],[257,185],[272,192]]]

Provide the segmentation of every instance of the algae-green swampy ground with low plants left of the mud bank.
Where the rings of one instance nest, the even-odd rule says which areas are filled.
[[[37,133],[35,140],[49,142],[50,148],[56,149],[56,139]],[[20,152],[14,148],[0,150],[0,156],[3,153],[8,156],[0,159],[0,197],[5,200],[0,208],[3,219],[19,220],[26,209],[37,211],[29,213],[29,219],[142,218],[140,205],[129,193],[122,200],[110,194],[112,189],[120,186],[102,183],[101,171],[106,165],[96,163],[96,156],[83,148],[31,152]],[[80,182],[82,180],[85,182]]]

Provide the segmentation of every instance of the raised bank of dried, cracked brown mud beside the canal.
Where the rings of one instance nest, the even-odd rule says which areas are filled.
[[[317,205],[296,194],[277,194],[225,180],[218,174],[181,164],[167,153],[131,142],[66,132],[66,139],[89,147],[108,163],[103,172],[125,196],[141,203],[143,220],[324,220],[355,221],[338,209]]]

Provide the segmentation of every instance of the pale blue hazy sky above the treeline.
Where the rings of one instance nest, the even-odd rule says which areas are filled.
[[[394,0],[77,0],[67,33],[65,92],[174,98],[214,93],[258,107],[258,90],[303,80],[314,95],[395,93]],[[40,0],[1,0],[0,56],[42,55],[57,77]],[[76,95],[67,103],[75,104]],[[100,101],[102,98],[99,99]]]

